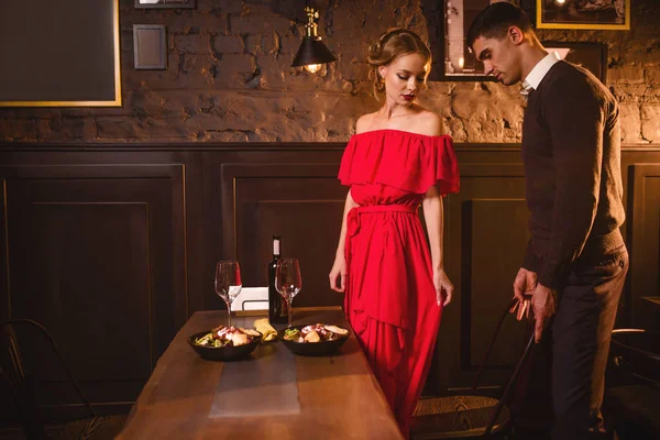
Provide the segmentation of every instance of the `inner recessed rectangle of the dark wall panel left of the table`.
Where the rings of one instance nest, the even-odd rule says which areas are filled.
[[[30,276],[12,278],[12,316],[47,326],[78,365],[81,381],[148,375],[154,358],[148,205],[33,202],[25,208],[10,212],[21,223],[10,229],[10,246],[16,248],[11,265],[30,268]],[[88,353],[75,350],[77,344]],[[124,355],[133,362],[118,362]],[[50,372],[44,376],[57,378]]]

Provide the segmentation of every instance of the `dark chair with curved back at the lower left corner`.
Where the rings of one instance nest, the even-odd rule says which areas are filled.
[[[76,388],[81,402],[89,411],[89,417],[65,424],[46,424],[40,413],[35,393],[36,381],[30,374],[23,353],[26,346],[19,343],[18,327],[36,330],[43,337],[62,363],[70,383]],[[68,369],[55,340],[48,331],[30,319],[12,319],[0,322],[0,384],[9,389],[14,403],[22,429],[9,428],[0,430],[0,439],[114,439],[123,427],[125,417],[97,416],[89,399]],[[21,432],[22,431],[22,432]]]

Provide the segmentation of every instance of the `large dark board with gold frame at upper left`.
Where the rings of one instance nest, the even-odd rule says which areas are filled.
[[[119,0],[16,2],[0,24],[12,66],[0,73],[0,107],[122,106]]]

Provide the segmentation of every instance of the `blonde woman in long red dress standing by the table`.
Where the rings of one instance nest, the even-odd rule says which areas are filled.
[[[350,190],[330,287],[345,292],[348,319],[407,438],[452,298],[442,196],[458,191],[459,169],[440,118],[415,102],[430,70],[428,46],[393,30],[372,44],[369,63],[383,107],[358,120],[341,161]]]

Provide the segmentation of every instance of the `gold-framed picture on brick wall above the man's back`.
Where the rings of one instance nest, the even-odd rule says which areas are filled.
[[[630,29],[630,0],[537,0],[538,29]]]

